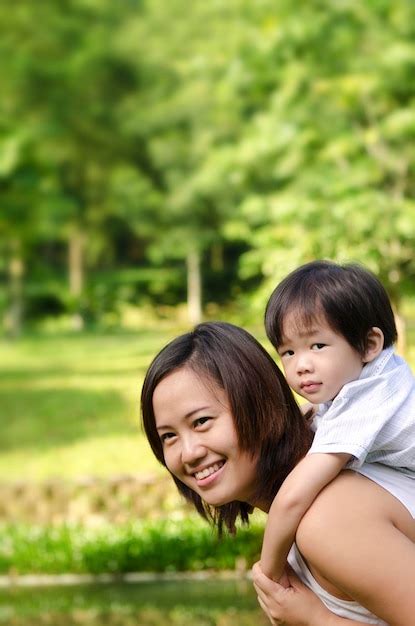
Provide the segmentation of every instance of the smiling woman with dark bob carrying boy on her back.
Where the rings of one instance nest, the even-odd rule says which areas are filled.
[[[255,507],[268,511],[313,436],[268,353],[219,322],[200,324],[159,353],[144,381],[142,413],[154,454],[219,532],[235,532]],[[284,591],[255,567],[271,621],[415,623],[414,485],[403,475],[384,478],[380,466],[371,479],[345,471],[329,484],[301,521],[290,562],[333,612],[292,575]]]

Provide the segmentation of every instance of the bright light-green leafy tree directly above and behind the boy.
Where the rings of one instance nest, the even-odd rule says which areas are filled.
[[[263,276],[262,310],[295,265],[353,259],[399,306],[415,275],[414,5],[267,8],[242,57],[249,89],[233,85],[251,114],[197,174],[212,202],[236,205],[225,232],[251,247],[241,277]]]

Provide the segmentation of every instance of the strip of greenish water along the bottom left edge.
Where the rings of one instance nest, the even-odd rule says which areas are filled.
[[[265,626],[249,581],[0,590],[1,626]]]

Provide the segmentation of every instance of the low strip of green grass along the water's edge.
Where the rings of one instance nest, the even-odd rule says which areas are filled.
[[[263,526],[218,539],[199,518],[129,525],[0,527],[0,572],[19,574],[181,572],[250,567]]]

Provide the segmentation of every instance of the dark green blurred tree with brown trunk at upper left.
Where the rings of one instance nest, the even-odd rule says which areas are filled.
[[[112,172],[125,162],[142,172],[146,165],[145,146],[132,148],[138,138],[123,134],[121,119],[125,101],[139,91],[140,64],[117,50],[117,31],[138,6],[22,2],[2,44],[13,124],[31,133],[42,169],[41,221],[52,239],[67,242],[67,301],[78,328],[86,268],[111,242]]]

